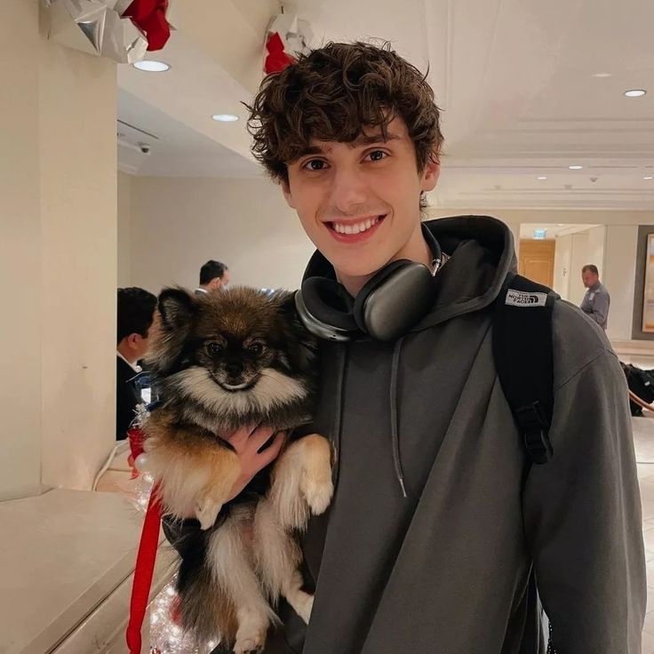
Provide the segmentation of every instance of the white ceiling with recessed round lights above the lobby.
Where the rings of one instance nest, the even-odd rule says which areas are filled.
[[[158,137],[149,155],[120,146],[121,168],[257,176],[241,102],[259,84],[263,35],[279,4],[175,6],[178,29],[153,56],[171,70],[119,67],[119,118]],[[390,0],[289,0],[284,8],[311,22],[314,44],[381,37],[428,66],[445,134],[433,206],[654,209],[654,179],[643,179],[654,177],[650,0],[404,0],[401,8]],[[623,95],[634,88],[649,93]],[[241,119],[219,124],[214,113]],[[138,134],[122,140],[136,143]],[[572,164],[583,169],[568,170]]]

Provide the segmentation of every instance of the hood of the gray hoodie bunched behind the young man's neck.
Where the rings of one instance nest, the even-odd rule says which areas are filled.
[[[454,216],[422,223],[450,257],[435,275],[435,305],[411,331],[422,331],[457,315],[488,307],[516,269],[514,238],[505,223],[490,216]],[[303,281],[336,279],[331,263],[319,251],[309,260]]]

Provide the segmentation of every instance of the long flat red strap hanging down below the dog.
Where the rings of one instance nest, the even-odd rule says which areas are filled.
[[[157,484],[150,493],[150,501],[143,531],[140,535],[139,554],[136,555],[136,568],[132,582],[132,600],[130,602],[130,622],[127,625],[125,640],[130,654],[140,654],[141,627],[148,608],[150,587],[155,572],[156,549],[159,546],[159,526],[161,524],[161,502]]]

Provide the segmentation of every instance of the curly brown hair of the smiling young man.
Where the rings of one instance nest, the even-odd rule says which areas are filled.
[[[251,106],[252,154],[274,179],[288,181],[309,140],[352,142],[363,127],[403,118],[416,148],[418,171],[443,144],[434,91],[419,69],[389,43],[329,43],[267,76]]]

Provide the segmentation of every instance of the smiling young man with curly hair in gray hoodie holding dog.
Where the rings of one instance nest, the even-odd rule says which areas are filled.
[[[602,331],[557,302],[554,457],[530,466],[491,347],[511,233],[486,217],[420,222],[443,142],[425,77],[387,47],[328,44],[267,77],[250,125],[318,251],[302,298],[350,334],[321,346],[315,423],[334,443],[337,483],[303,538],[313,613],[305,627],[282,605],[266,652],[538,654],[539,596],[561,654],[639,654],[624,375]],[[435,273],[426,315],[390,342],[357,334],[355,299],[398,259]],[[311,287],[325,292],[312,299]],[[389,321],[415,300],[396,299]],[[247,438],[235,449],[259,467]]]

